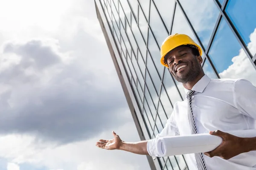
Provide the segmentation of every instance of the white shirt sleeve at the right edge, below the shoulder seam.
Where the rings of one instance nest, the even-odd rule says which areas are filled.
[[[256,119],[256,87],[246,79],[238,79],[234,85],[234,102],[240,113]]]

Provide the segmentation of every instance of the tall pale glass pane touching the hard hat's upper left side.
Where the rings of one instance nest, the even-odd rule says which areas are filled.
[[[150,6],[149,25],[157,39],[158,45],[161,46],[166,37],[168,37],[168,32],[163,25],[163,22],[157,12],[156,7],[154,6],[154,3],[152,3]]]

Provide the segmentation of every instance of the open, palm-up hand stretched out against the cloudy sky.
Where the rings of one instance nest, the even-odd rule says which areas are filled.
[[[107,150],[119,149],[122,144],[122,140],[118,135],[116,135],[114,131],[112,133],[114,136],[113,139],[110,139],[110,140],[100,139],[99,142],[96,142],[96,146],[102,149],[107,149]]]

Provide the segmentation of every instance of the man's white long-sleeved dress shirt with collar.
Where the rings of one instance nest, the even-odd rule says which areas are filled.
[[[192,90],[195,91],[192,111],[198,133],[256,129],[256,87],[246,79],[210,79],[204,75]],[[159,157],[156,152],[159,137],[189,134],[187,101],[184,100],[175,103],[164,129],[148,141],[148,153]],[[194,153],[184,156],[189,170],[198,170]],[[256,170],[256,151],[241,153],[229,160],[203,157],[207,170]]]

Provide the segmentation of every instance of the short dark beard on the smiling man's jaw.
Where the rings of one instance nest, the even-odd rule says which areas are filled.
[[[201,72],[201,65],[200,63],[197,61],[197,59],[195,59],[194,62],[191,62],[190,65],[190,70],[187,74],[183,74],[181,76],[177,76],[176,72],[171,72],[172,76],[181,83],[187,83],[187,82],[191,82],[192,80],[194,80]]]

